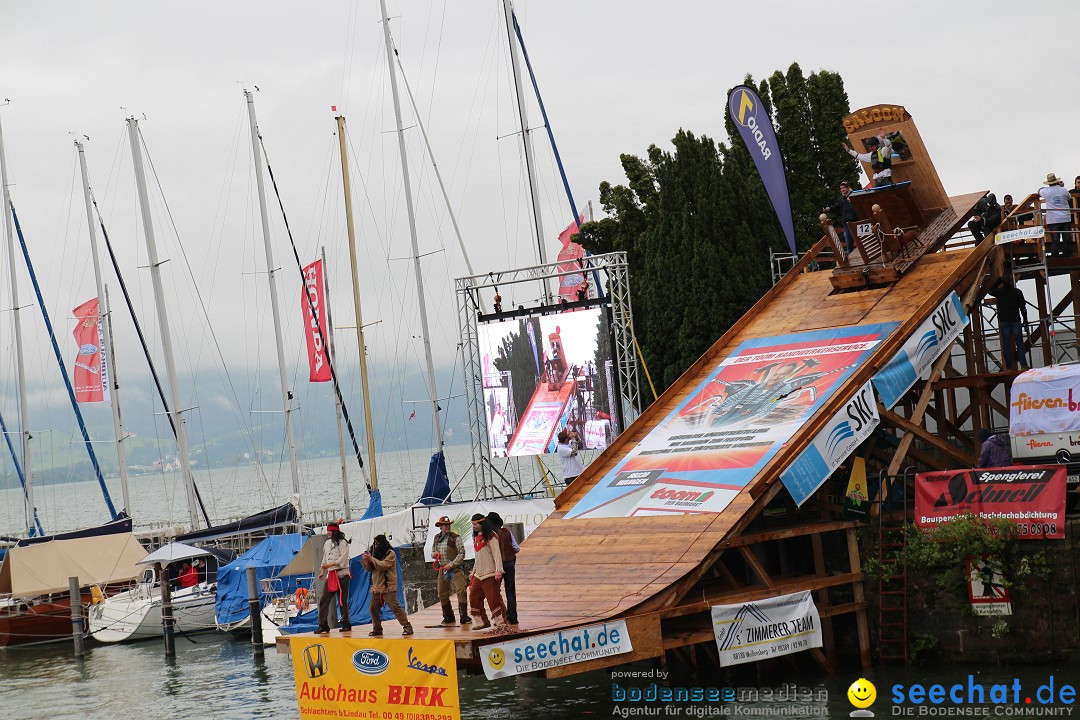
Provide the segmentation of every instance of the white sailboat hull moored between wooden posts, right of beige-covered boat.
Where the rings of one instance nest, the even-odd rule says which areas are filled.
[[[173,617],[177,633],[203,633],[216,628],[213,585],[202,583],[173,593]],[[160,638],[161,588],[140,584],[126,593],[114,595],[93,606],[90,611],[90,633],[100,642],[123,642]]]

